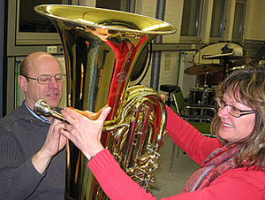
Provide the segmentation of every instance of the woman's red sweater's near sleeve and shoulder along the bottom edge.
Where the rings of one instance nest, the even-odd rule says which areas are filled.
[[[107,196],[112,200],[156,199],[120,168],[109,150],[102,150],[87,165]],[[209,187],[194,192],[164,197],[170,200],[257,200],[265,196],[265,173],[234,169],[216,178]],[[176,180],[178,181],[178,180]]]

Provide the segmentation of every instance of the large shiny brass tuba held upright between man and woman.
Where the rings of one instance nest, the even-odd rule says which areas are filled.
[[[128,85],[142,50],[155,36],[173,34],[175,27],[129,12],[85,6],[44,4],[34,10],[49,18],[61,37],[67,106],[98,112],[110,105],[102,145],[148,190],[158,168],[166,110],[154,89]],[[82,152],[71,141],[66,150],[65,199],[107,199]]]

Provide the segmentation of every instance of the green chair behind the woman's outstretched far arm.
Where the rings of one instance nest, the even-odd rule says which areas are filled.
[[[211,134],[210,131],[210,122],[212,120],[211,116],[208,115],[191,115],[188,110],[190,109],[200,109],[201,113],[205,113],[203,111],[212,111],[215,112],[215,109],[212,105],[186,105],[184,96],[182,91],[179,89],[178,91],[173,92],[172,94],[174,99],[174,104],[176,106],[176,112],[178,116],[180,116],[182,119],[185,119],[187,122],[189,122],[193,127],[195,127],[197,130],[201,132],[202,135],[214,137],[214,135]],[[206,112],[208,113],[208,112]],[[172,166],[173,166],[173,159],[174,159],[174,153],[175,153],[176,144],[173,143],[172,147],[172,153],[171,153],[171,161],[170,161],[170,173],[172,172]],[[179,147],[177,152],[177,158],[179,156]]]

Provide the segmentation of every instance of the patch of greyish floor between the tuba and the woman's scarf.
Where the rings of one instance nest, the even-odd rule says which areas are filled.
[[[159,151],[161,153],[160,167],[155,172],[155,183],[152,184],[155,188],[159,188],[159,190],[151,190],[153,196],[156,196],[157,199],[179,194],[186,181],[200,167],[200,165],[184,154],[182,150],[180,150],[179,157],[177,158],[178,148],[176,146],[172,172],[170,173],[172,145],[173,142],[170,136],[164,135],[163,147]]]

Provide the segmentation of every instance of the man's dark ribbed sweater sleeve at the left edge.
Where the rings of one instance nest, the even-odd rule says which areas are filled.
[[[1,131],[0,135],[0,199],[26,199],[44,175],[38,173],[31,158],[24,161],[15,138]]]

